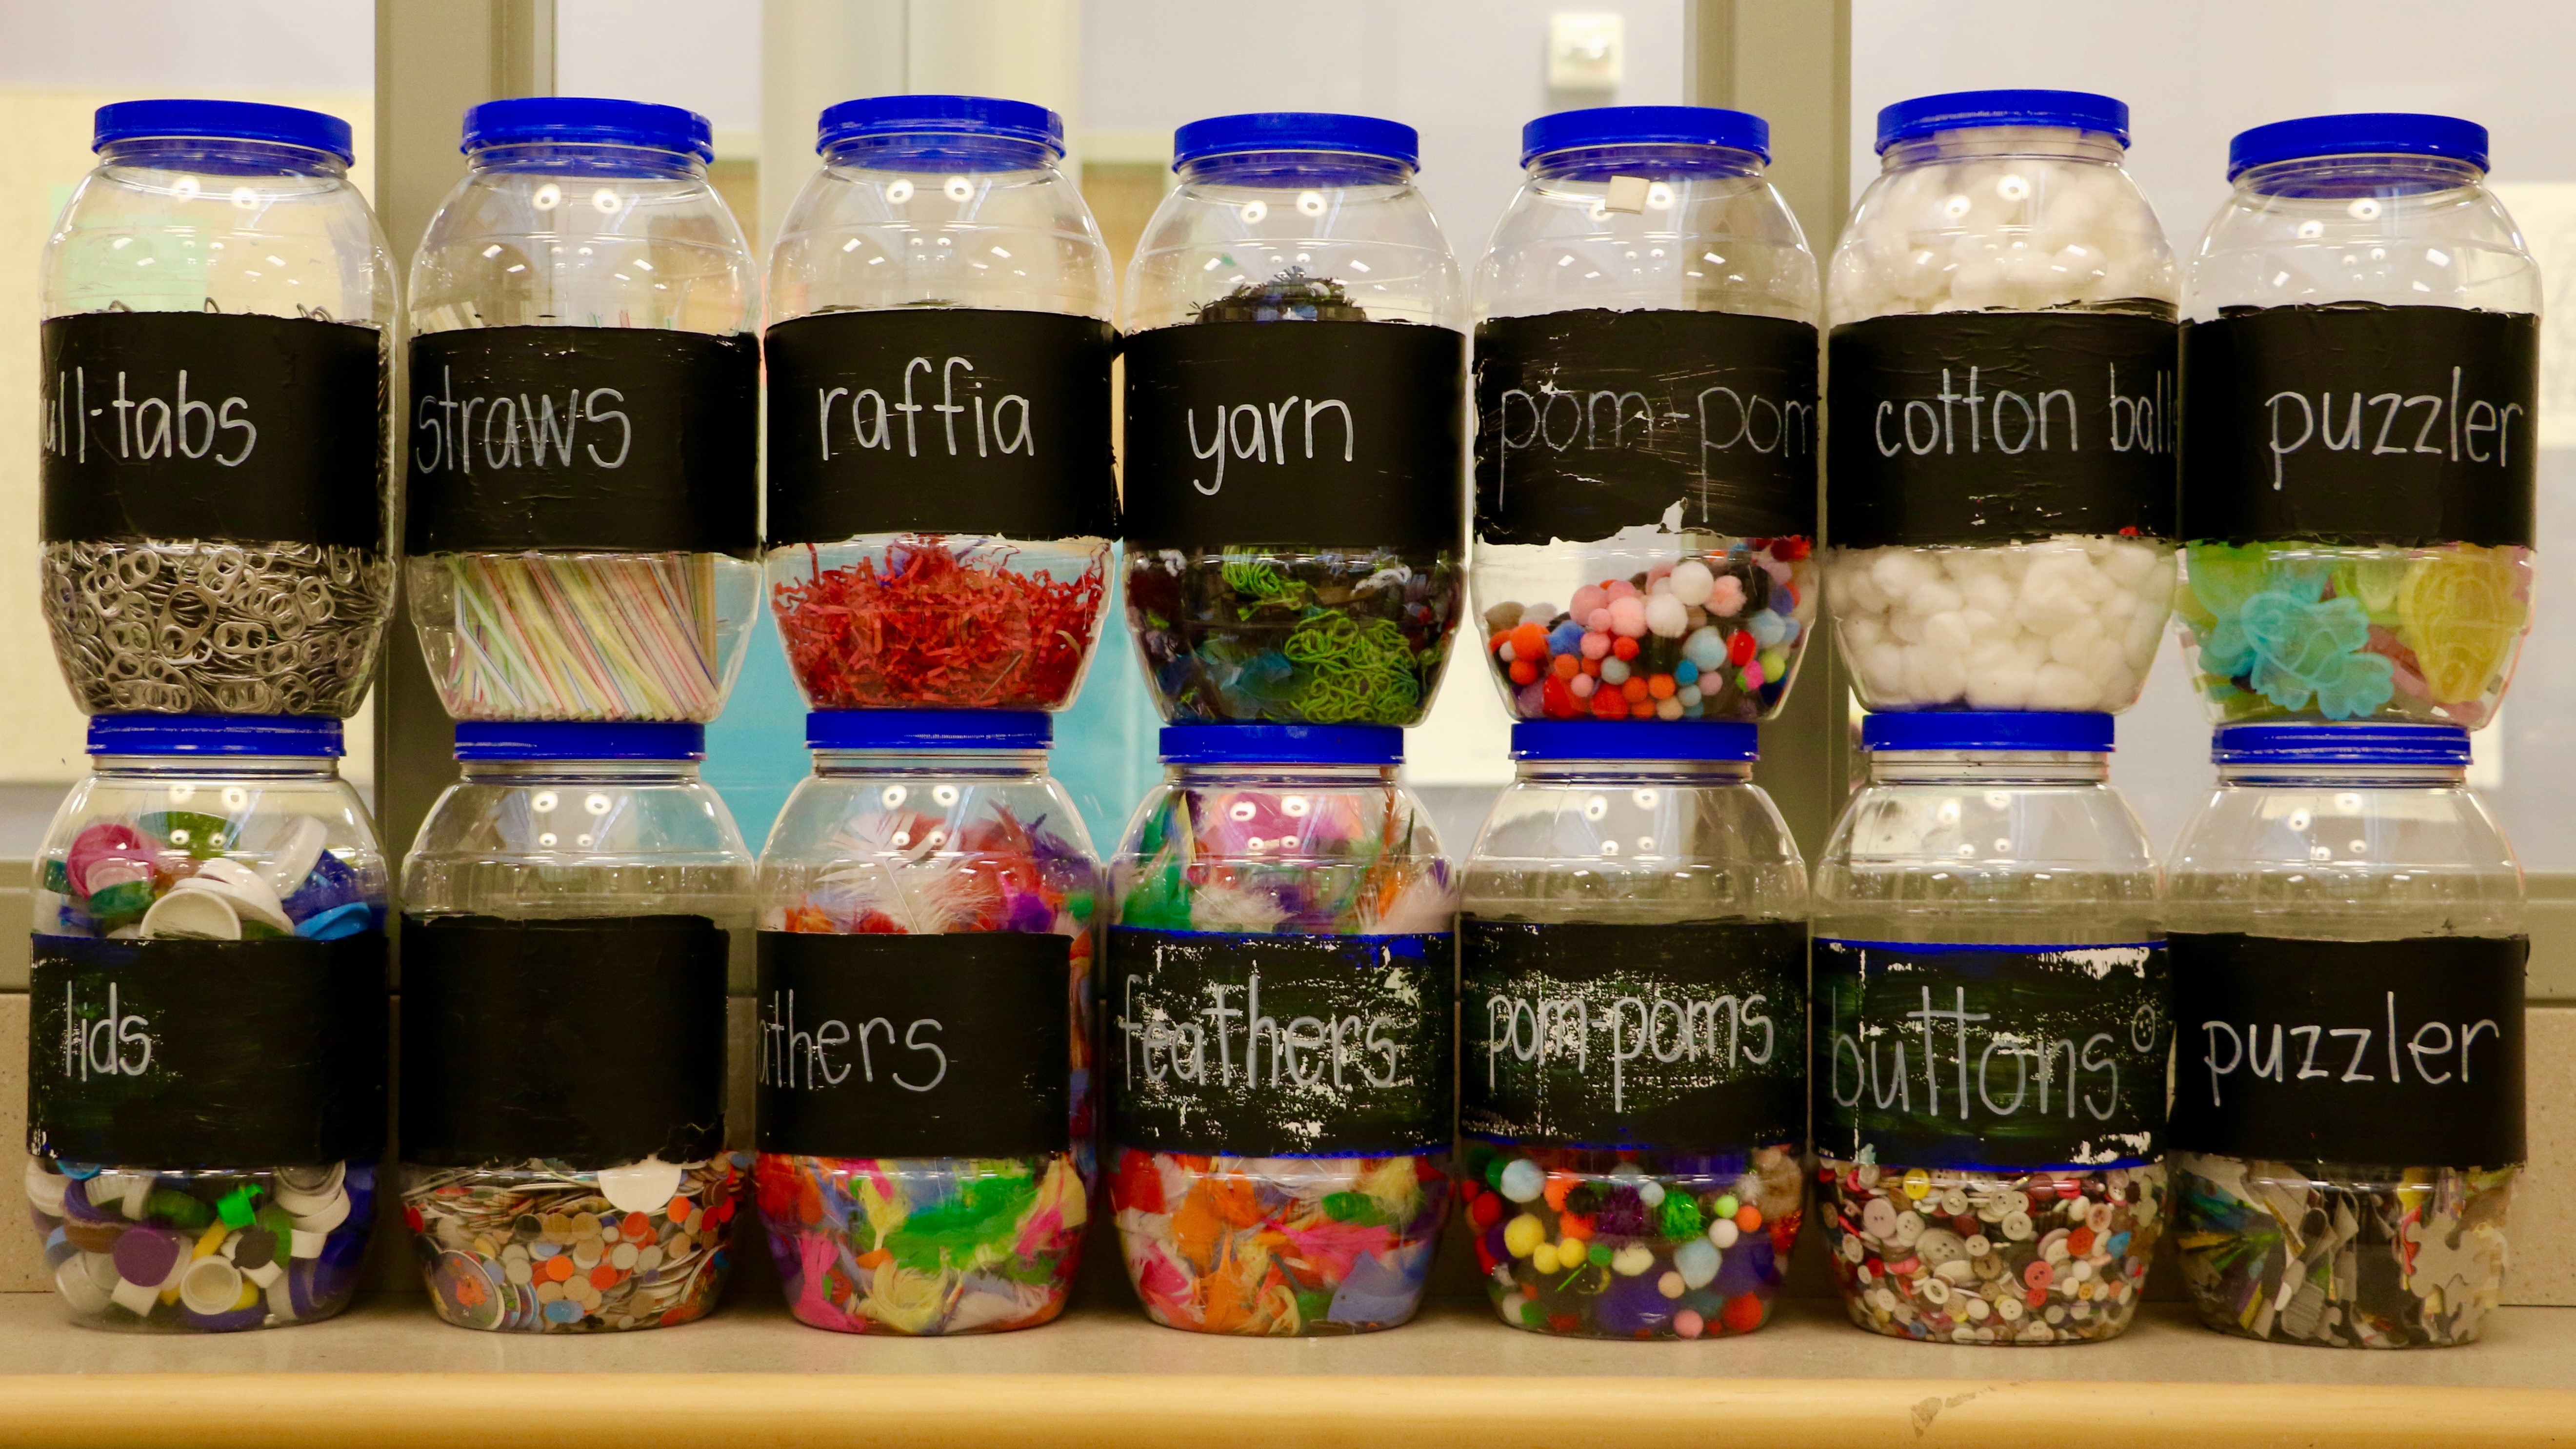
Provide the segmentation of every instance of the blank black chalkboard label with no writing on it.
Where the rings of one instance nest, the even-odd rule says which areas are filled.
[[[404,916],[402,1158],[706,1161],[724,1145],[724,945],[706,916]]]

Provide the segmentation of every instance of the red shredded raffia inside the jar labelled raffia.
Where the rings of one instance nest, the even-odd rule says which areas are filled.
[[[1046,710],[1066,703],[1100,628],[1105,564],[1059,584],[1015,574],[1010,548],[953,551],[904,535],[886,564],[778,584],[778,636],[817,710],[889,705]]]

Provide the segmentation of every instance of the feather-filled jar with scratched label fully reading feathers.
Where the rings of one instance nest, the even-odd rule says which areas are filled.
[[[1458,888],[1404,734],[1167,726],[1110,860],[1110,1210],[1167,1328],[1365,1333],[1448,1215]]]

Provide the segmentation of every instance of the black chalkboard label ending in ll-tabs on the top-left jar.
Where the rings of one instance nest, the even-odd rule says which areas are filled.
[[[386,546],[384,335],[355,322],[44,322],[44,540]]]

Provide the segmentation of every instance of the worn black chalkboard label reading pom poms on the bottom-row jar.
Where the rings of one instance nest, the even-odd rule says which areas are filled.
[[[1806,1143],[1806,924],[1458,919],[1458,1127],[1522,1145]]]

